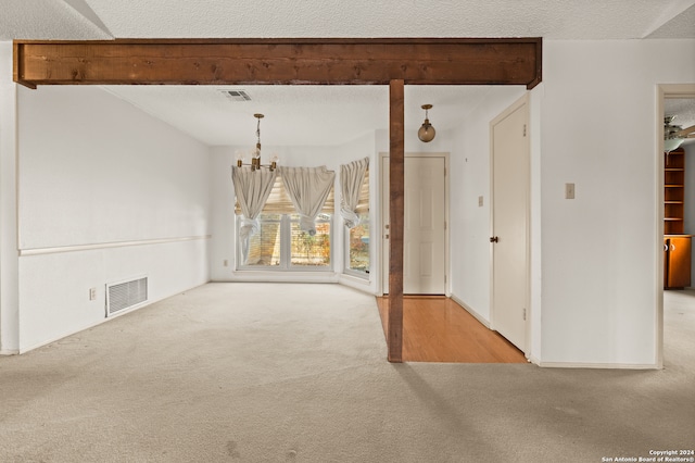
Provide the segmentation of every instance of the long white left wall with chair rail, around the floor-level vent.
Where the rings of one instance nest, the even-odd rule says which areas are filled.
[[[208,280],[207,147],[98,87],[17,107],[22,351],[103,322],[109,283],[147,275],[155,301]]]

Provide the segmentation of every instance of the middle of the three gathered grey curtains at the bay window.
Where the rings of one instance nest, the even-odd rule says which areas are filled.
[[[300,213],[300,229],[316,235],[316,216],[336,179],[336,173],[320,167],[278,167],[285,189]]]

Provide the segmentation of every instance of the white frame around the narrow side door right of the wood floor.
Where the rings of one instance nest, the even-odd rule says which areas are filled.
[[[523,352],[527,359],[530,355],[530,346],[531,342],[531,321],[533,317],[533,308],[531,306],[531,99],[529,92],[526,92],[521,98],[516,100],[509,107],[507,107],[504,111],[502,111],[496,117],[490,121],[490,236],[494,236],[494,208],[495,208],[495,198],[494,198],[494,126],[506,118],[508,115],[517,111],[519,108],[526,105],[527,112],[527,145],[528,145],[528,158],[527,158],[527,166],[526,166],[526,176],[527,176],[527,185],[526,185],[526,296],[525,296],[525,305],[526,305],[526,318],[525,318],[525,339],[523,346],[519,346],[519,350]],[[495,303],[494,303],[494,289],[495,289],[495,280],[494,280],[494,243],[490,243],[490,329],[495,329]]]

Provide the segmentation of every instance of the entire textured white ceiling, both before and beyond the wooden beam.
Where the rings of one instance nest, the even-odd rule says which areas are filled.
[[[0,0],[0,40],[237,37],[695,38],[695,0]],[[210,145],[326,145],[388,125],[386,87],[108,87]],[[503,87],[406,87],[406,127],[445,129]],[[691,101],[692,102],[692,101]],[[683,110],[684,111],[684,110]],[[687,117],[679,115],[679,123]],[[693,118],[695,121],[695,117]]]

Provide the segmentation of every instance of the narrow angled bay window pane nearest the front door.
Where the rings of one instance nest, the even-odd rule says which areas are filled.
[[[368,278],[369,275],[369,168],[359,190],[359,225],[345,230],[345,273]]]

